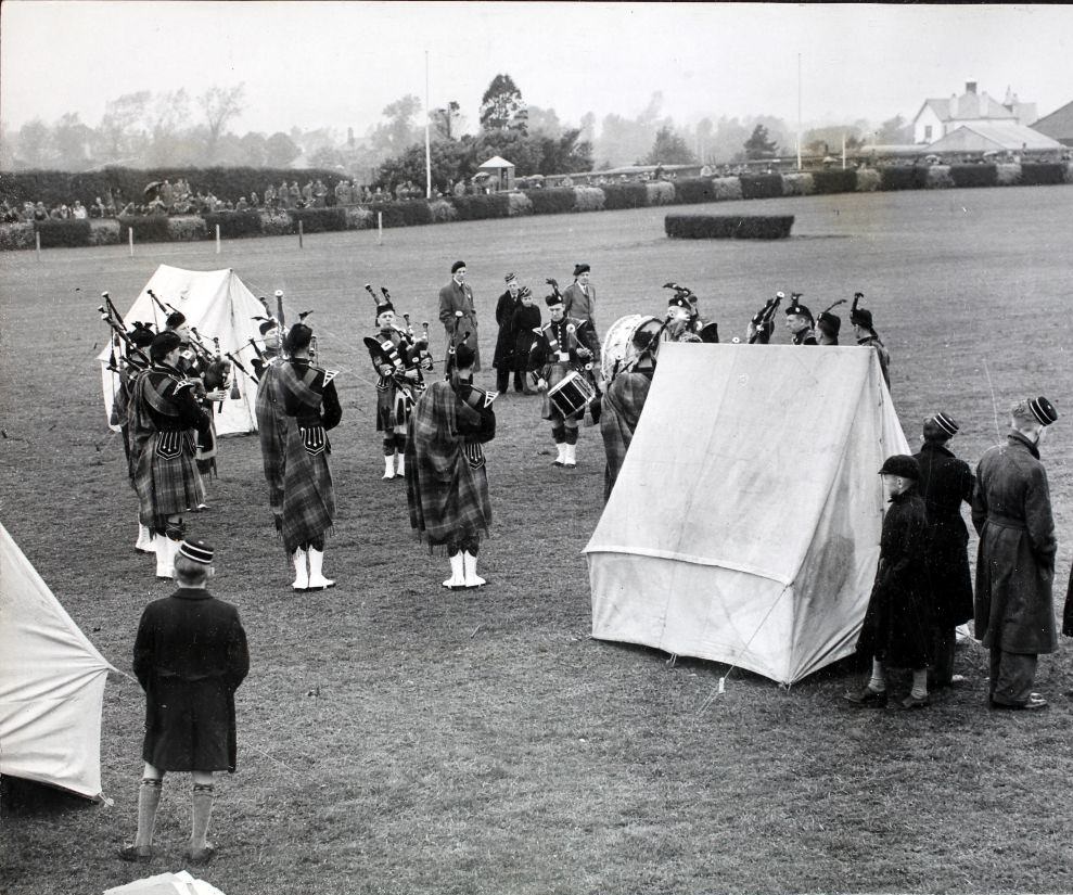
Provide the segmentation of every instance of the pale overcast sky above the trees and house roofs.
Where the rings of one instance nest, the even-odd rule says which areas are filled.
[[[385,105],[458,100],[468,129],[498,73],[564,123],[636,117],[662,91],[678,124],[769,114],[911,118],[969,79],[1046,115],[1073,100],[1073,8],[708,3],[5,0],[0,115],[98,125],[137,90],[245,85],[238,133],[354,127]]]

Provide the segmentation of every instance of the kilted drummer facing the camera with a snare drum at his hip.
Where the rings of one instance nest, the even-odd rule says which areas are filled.
[[[584,400],[577,400],[579,393],[591,391],[586,367],[599,354],[596,330],[590,321],[566,316],[566,306],[559,290],[545,297],[551,321],[541,328],[540,334],[529,350],[528,369],[537,378],[537,391],[544,393],[540,415],[551,421],[551,437],[559,451],[554,464],[573,468],[577,465],[577,425],[585,415]],[[575,387],[571,394],[549,397],[549,389],[557,391],[564,380],[575,373]],[[565,388],[560,388],[565,392]],[[579,405],[579,406],[578,406]]]

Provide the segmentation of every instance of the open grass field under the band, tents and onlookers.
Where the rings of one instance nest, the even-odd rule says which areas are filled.
[[[714,695],[725,666],[588,637],[579,551],[602,509],[597,430],[583,429],[579,465],[563,472],[538,399],[497,402],[495,530],[481,553],[491,586],[475,594],[439,587],[446,563],[411,539],[403,484],[380,480],[365,282],[435,321],[436,293],[464,259],[486,362],[509,270],[542,294],[546,277],[565,284],[589,263],[601,332],[662,311],[660,286],[676,280],[725,340],[776,290],[804,293],[814,311],[859,290],[911,444],[944,409],[974,464],[1015,398],[1057,405],[1044,459],[1060,608],[1073,557],[1073,191],[719,205],[736,210],[796,215],[793,236],[669,241],[665,210],[650,208],[389,230],[383,245],[350,232],[303,251],[281,238],[219,256],[208,243],[0,255],[0,521],[123,670],[142,606],[168,588],[131,550],[136,500],[93,361],[100,292],[125,309],[161,263],[233,267],[256,294],[282,287],[292,311],[315,308],[322,362],[343,370],[325,562],[338,587],[290,592],[255,437],[222,443],[213,509],[192,520],[218,547],[213,590],[239,605],[253,654],[239,770],[217,788],[220,855],[197,875],[228,895],[1073,891],[1068,641],[1040,662],[1037,689],[1053,704],[1037,715],[987,712],[972,643],[958,656],[967,681],[919,713],[842,704],[857,680],[848,663],[789,692],[733,670]],[[702,402],[704,384],[689,387]],[[142,713],[137,683],[113,675],[102,765],[114,804],[5,801],[0,893],[85,895],[143,875],[113,857],[135,830]],[[181,866],[189,785],[165,784],[146,872]]]

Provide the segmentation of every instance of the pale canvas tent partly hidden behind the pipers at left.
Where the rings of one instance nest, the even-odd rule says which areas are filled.
[[[213,347],[213,336],[218,337],[220,350],[231,351],[246,370],[253,372],[250,363],[253,351],[248,340],[260,338],[257,321],[253,318],[264,317],[265,307],[233,270],[183,270],[161,265],[145,283],[130,310],[124,312],[123,319],[127,321],[128,329],[136,320],[152,323],[156,331],[164,328],[165,315],[149,297],[150,290],[166,305],[182,311],[187,322],[197,330],[209,349]],[[118,376],[108,370],[111,354],[108,345],[97,358],[101,362],[106,418],[111,418],[112,401],[119,385]],[[219,405],[215,405],[218,435],[257,431],[257,419],[254,415],[257,386],[241,371],[235,370],[234,373],[241,397],[239,400],[225,400],[222,410]]]

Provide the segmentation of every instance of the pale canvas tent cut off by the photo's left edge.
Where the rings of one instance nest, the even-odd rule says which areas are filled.
[[[111,670],[0,525],[0,773],[99,797]]]

